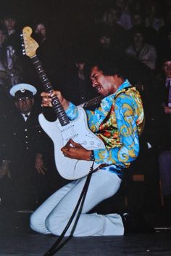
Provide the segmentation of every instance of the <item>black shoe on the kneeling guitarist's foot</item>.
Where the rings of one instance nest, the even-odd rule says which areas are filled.
[[[147,223],[141,215],[125,212],[121,215],[126,233],[154,233],[154,227]]]

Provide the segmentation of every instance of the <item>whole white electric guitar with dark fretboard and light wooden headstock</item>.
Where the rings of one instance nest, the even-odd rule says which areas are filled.
[[[31,37],[31,34],[32,28],[23,28],[23,46],[25,47],[25,52],[23,53],[30,57],[45,91],[52,92],[53,88],[51,87],[51,83],[43,70],[41,62],[36,56],[38,43]],[[55,164],[59,175],[67,180],[75,180],[88,175],[92,161],[64,157],[61,148],[70,139],[74,140],[76,143],[80,143],[88,150],[105,148],[104,143],[88,128],[87,116],[83,108],[78,107],[78,118],[74,121],[70,121],[57,96],[52,97],[52,106],[57,115],[57,120],[53,122],[47,121],[43,113],[39,115],[38,120],[43,130],[51,137],[54,143]],[[98,167],[98,164],[94,163],[94,167]]]

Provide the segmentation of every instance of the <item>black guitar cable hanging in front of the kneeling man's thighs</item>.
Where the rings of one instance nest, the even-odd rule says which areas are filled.
[[[94,161],[93,161],[93,164],[94,164]],[[70,220],[68,221],[67,225],[65,226],[64,230],[62,231],[61,235],[58,237],[57,241],[55,241],[55,243],[51,246],[51,248],[43,255],[43,256],[52,256],[54,255],[56,252],[59,251],[59,249],[62,249],[62,247],[64,246],[64,244],[67,244],[67,241],[69,241],[71,238],[72,238],[72,234],[74,233],[75,231],[75,228],[76,228],[76,225],[78,223],[78,220],[79,220],[79,217],[80,217],[80,214],[82,212],[82,209],[83,209],[83,204],[84,204],[84,201],[86,199],[86,194],[87,194],[87,191],[88,191],[88,185],[91,181],[91,176],[93,174],[93,172],[96,172],[98,171],[99,169],[101,169],[101,166],[103,164],[101,164],[99,167],[97,167],[96,169],[93,169],[93,164],[90,168],[90,172],[88,173],[88,176],[86,178],[86,182],[83,186],[83,190],[81,191],[80,193],[80,197],[78,199],[78,202],[76,204],[76,207],[74,209],[74,211],[72,212],[72,215],[70,217]],[[79,208],[80,207],[80,208]],[[79,209],[79,210],[78,210]],[[72,220],[73,218],[75,217],[76,213],[78,212],[78,215],[75,219],[75,223],[72,227],[72,231],[70,232],[70,236],[65,240],[63,241],[63,243],[61,244],[62,242],[62,239],[64,238],[64,234],[67,232],[68,228],[70,227],[71,223],[72,223]]]

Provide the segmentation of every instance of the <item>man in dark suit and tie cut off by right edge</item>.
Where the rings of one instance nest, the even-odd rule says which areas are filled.
[[[154,80],[151,108],[154,113],[155,141],[159,143],[160,151],[168,150],[171,143],[171,56],[162,57],[162,72]],[[157,122],[156,122],[157,121]],[[155,127],[158,127],[157,130]]]

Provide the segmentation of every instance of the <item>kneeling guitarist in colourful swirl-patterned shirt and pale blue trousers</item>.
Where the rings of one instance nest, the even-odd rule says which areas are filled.
[[[124,63],[124,60],[122,60]],[[119,60],[97,61],[91,68],[92,86],[104,96],[99,108],[86,111],[88,126],[104,143],[105,148],[88,150],[69,140],[61,148],[66,159],[92,161],[106,164],[93,172],[83,209],[73,236],[122,236],[125,223],[121,215],[87,214],[96,204],[117,193],[124,169],[130,166],[139,152],[138,136],[143,129],[143,105],[135,87],[125,78]],[[77,118],[78,108],[67,101],[62,93],[42,92],[43,107],[51,106],[52,97],[59,98],[70,120]],[[68,166],[70,172],[70,166]],[[30,217],[30,226],[39,233],[59,236],[67,225],[83,189],[86,176],[64,185],[49,197]],[[65,236],[70,236],[74,223]]]

